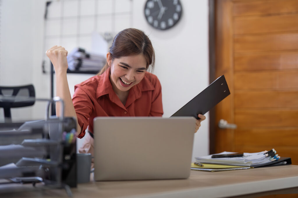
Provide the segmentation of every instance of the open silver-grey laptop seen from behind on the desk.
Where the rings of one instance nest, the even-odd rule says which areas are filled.
[[[94,179],[185,179],[190,175],[193,117],[94,118]]]

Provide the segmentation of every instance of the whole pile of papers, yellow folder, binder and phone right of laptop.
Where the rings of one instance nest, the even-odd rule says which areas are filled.
[[[230,157],[233,153],[235,157]],[[217,155],[227,157],[218,157]],[[275,149],[258,153],[243,153],[241,156],[239,153],[224,151],[213,155],[196,157],[195,159],[196,162],[192,164],[191,169],[203,171],[239,170],[292,163],[291,158],[278,156]],[[197,165],[198,163],[199,165]]]

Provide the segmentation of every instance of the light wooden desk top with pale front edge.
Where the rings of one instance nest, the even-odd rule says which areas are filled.
[[[282,189],[298,193],[298,166],[222,172],[192,170],[190,178],[179,180],[90,182],[79,184],[72,193],[73,197],[232,197]],[[12,191],[0,185],[0,197],[67,197],[63,189]]]

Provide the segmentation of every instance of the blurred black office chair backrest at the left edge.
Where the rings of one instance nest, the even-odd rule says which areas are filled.
[[[4,108],[4,122],[12,122],[10,108],[27,107],[34,103],[35,89],[33,85],[0,86],[0,107]]]

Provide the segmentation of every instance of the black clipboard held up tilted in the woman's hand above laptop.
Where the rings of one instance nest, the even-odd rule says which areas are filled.
[[[198,119],[198,114],[204,115],[212,107],[230,95],[230,90],[224,75],[218,77],[206,89],[181,107],[172,116],[193,116]]]

